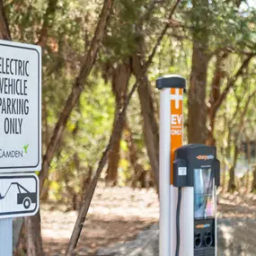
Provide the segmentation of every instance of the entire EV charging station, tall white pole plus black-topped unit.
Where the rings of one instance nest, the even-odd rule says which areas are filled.
[[[186,80],[164,75],[160,89],[161,256],[216,256],[216,147],[183,144]]]

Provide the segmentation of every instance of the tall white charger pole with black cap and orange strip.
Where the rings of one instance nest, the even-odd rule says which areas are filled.
[[[174,256],[176,246],[177,188],[173,187],[174,151],[183,141],[183,91],[186,80],[164,75],[156,80],[160,89],[160,237],[159,255]]]

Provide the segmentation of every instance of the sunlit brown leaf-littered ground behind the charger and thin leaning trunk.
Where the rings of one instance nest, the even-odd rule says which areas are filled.
[[[218,195],[222,218],[256,218],[256,195]],[[64,205],[42,205],[42,235],[47,256],[64,255],[77,212]],[[98,186],[77,246],[77,255],[95,255],[98,249],[133,240],[159,219],[159,204],[153,189]]]

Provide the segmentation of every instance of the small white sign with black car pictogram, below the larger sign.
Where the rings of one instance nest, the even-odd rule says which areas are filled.
[[[0,174],[0,218],[35,215],[39,183],[35,173]]]

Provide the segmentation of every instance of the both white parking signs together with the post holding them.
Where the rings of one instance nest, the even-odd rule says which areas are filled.
[[[41,49],[0,40],[0,256],[13,255],[12,217],[39,209],[40,169]]]

